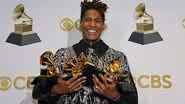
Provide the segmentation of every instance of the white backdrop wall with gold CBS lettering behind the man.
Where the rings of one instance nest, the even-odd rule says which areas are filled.
[[[107,29],[102,39],[124,52],[139,92],[139,104],[185,104],[185,18],[184,0],[145,0],[153,16],[155,29],[164,41],[140,45],[128,41],[135,30],[134,9],[137,0],[103,0],[109,6]],[[0,103],[32,104],[31,76],[39,74],[39,56],[46,50],[55,52],[79,41],[77,29],[63,31],[64,17],[80,17],[81,0],[1,0],[0,3]],[[6,43],[14,31],[13,9],[25,5],[33,18],[33,30],[42,42],[26,46]],[[27,86],[28,84],[28,86]],[[146,86],[148,85],[148,86]],[[5,88],[5,90],[2,89]]]

